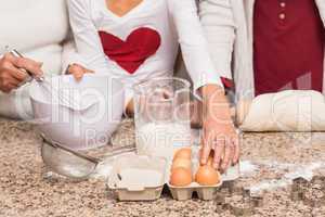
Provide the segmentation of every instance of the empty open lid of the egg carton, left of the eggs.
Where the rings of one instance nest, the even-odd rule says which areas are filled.
[[[161,196],[167,181],[162,157],[125,156],[116,159],[108,188],[119,201],[154,201]]]

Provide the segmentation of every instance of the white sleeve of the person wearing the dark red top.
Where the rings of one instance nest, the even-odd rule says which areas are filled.
[[[199,15],[217,72],[232,79],[235,24],[230,0],[202,0]]]

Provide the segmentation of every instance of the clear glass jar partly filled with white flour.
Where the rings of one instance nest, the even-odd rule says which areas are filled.
[[[191,145],[190,89],[181,78],[156,78],[134,86],[136,150],[172,158]]]

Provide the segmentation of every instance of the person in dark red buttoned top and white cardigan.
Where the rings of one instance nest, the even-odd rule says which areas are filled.
[[[324,0],[200,0],[199,14],[237,100],[286,89],[325,93]]]

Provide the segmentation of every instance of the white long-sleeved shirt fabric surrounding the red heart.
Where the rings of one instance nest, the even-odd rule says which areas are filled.
[[[79,62],[95,73],[118,77],[126,85],[126,102],[132,98],[134,84],[172,76],[179,43],[194,89],[207,84],[222,87],[202,30],[195,0],[143,0],[121,17],[107,9],[105,0],[68,0],[68,9]],[[142,27],[157,31],[160,46],[133,74],[129,74],[105,55],[99,31],[127,40],[131,33]]]

